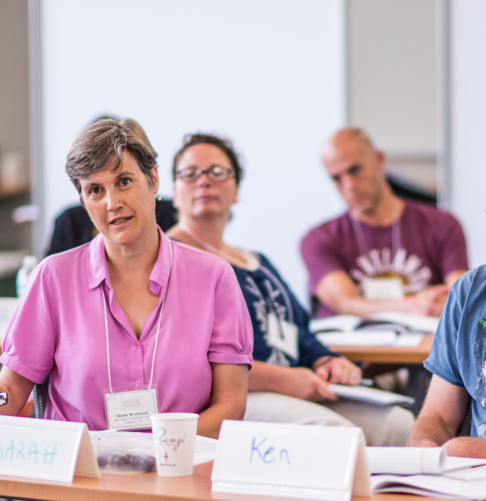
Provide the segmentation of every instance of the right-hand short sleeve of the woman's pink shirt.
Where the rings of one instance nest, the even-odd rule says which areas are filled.
[[[233,269],[225,263],[214,291],[209,362],[253,364],[253,328]]]

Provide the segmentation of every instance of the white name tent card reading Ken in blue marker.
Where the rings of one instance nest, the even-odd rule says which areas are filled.
[[[211,489],[349,501],[369,496],[361,428],[223,421]]]

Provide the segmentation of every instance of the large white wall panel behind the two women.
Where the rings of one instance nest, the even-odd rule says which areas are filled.
[[[182,136],[216,132],[246,165],[227,241],[266,253],[306,301],[300,238],[343,208],[319,164],[345,121],[342,0],[42,0],[41,33],[46,242],[78,200],[66,154],[97,115],[142,124],[163,195]]]

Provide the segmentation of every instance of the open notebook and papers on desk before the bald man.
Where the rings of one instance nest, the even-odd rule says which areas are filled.
[[[309,329],[325,345],[415,347],[433,334],[438,319],[410,313],[383,312],[365,318],[336,315],[311,320]]]

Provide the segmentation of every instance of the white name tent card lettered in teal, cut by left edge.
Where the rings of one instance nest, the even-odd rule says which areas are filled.
[[[0,416],[0,474],[72,482],[100,470],[85,423]]]

